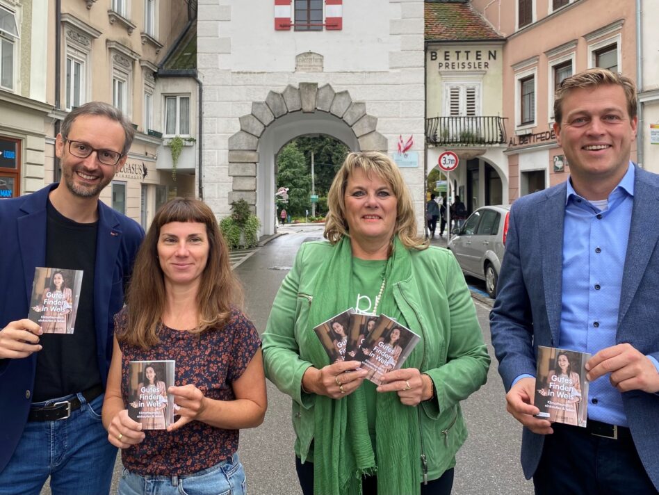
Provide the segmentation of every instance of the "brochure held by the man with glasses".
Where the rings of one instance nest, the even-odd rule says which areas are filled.
[[[41,325],[44,334],[72,334],[80,301],[83,270],[34,269],[28,318]]]

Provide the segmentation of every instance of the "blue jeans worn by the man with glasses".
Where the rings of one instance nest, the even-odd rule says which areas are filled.
[[[117,448],[101,423],[101,394],[68,419],[28,421],[9,463],[0,472],[0,495],[38,495],[50,476],[53,495],[99,495],[110,492]],[[66,396],[48,403],[68,400]]]

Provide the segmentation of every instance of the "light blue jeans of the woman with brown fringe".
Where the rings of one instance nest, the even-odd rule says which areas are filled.
[[[181,476],[140,476],[124,468],[119,495],[247,495],[245,470],[234,454],[197,473]]]

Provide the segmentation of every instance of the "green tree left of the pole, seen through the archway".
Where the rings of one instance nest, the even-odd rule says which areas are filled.
[[[291,216],[304,216],[310,209],[311,177],[304,154],[295,141],[282,148],[277,155],[277,188],[288,188],[288,203],[284,206]]]

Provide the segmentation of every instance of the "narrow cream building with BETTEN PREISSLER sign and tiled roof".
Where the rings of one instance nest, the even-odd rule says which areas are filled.
[[[469,1],[425,3],[428,169],[444,152],[457,155],[450,195],[469,213],[508,200],[503,44]]]

